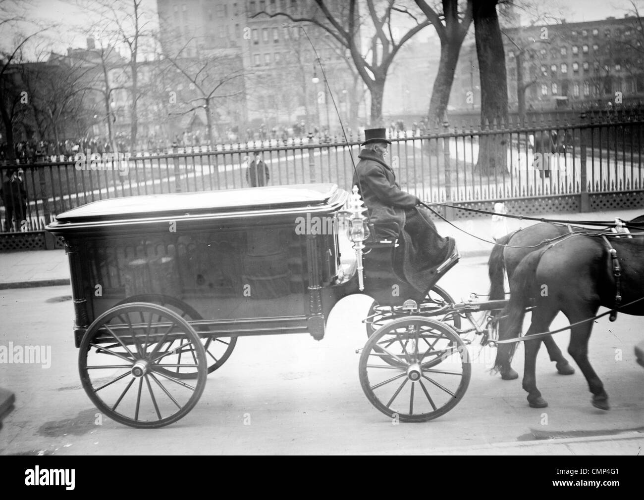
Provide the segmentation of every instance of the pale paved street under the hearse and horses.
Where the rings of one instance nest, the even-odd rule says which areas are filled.
[[[486,258],[464,258],[440,285],[457,299],[486,293]],[[591,406],[579,371],[557,375],[544,349],[537,376],[550,406],[531,409],[520,380],[490,375],[493,353],[473,346],[472,379],[455,409],[424,424],[393,425],[359,384],[355,349],[366,341],[360,321],[370,301],[357,297],[336,305],[323,341],[308,335],[240,339],[191,413],[169,427],[139,430],[102,418],[81,388],[70,294],[68,286],[0,290],[0,344],[51,348],[50,368],[0,364],[0,385],[16,396],[0,431],[0,454],[629,455],[644,446],[644,434],[634,433],[644,426],[644,370],[633,354],[641,340],[638,317],[620,314],[616,323],[603,317],[594,327],[590,357],[609,393],[609,412]],[[564,324],[558,317],[553,326]],[[558,335],[563,348],[568,337]],[[522,349],[515,368],[522,373]],[[594,437],[606,434],[614,436]],[[535,445],[547,438],[562,445]],[[520,443],[526,447],[517,451]]]

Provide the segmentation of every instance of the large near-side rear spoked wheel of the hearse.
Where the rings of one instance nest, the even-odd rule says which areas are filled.
[[[179,361],[179,357],[182,357]],[[194,381],[172,375],[190,369]],[[150,303],[111,308],[79,350],[82,386],[97,408],[131,427],[163,427],[197,403],[208,375],[200,337],[184,318]]]

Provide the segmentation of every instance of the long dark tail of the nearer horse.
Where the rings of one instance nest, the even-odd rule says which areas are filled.
[[[512,274],[510,300],[501,313],[506,318],[499,323],[498,328],[499,340],[515,338],[521,333],[526,307],[530,299],[535,297],[536,268],[546,249],[547,247],[527,254]],[[492,370],[504,372],[509,369],[515,350],[516,343],[500,344]]]

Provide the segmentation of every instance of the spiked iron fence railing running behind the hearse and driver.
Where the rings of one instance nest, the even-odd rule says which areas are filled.
[[[395,132],[386,161],[401,187],[431,202],[643,190],[643,132],[639,114],[478,130],[446,125],[431,134]],[[359,141],[339,138],[286,145],[270,139],[216,150],[2,165],[0,231],[41,231],[57,213],[104,198],[247,187],[256,151],[269,168],[269,186],[317,182],[348,189],[360,149]],[[13,182],[5,175],[10,170],[21,170]]]

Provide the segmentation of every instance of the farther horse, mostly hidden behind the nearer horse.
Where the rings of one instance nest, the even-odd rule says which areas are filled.
[[[636,219],[627,222],[630,226],[631,232],[639,232],[644,230],[644,215],[640,215]],[[641,229],[638,229],[641,228]],[[490,281],[489,299],[490,300],[503,300],[506,298],[506,290],[504,289],[504,271],[507,273],[508,281],[515,272],[516,266],[527,254],[539,249],[547,243],[542,243],[545,240],[553,240],[553,238],[563,237],[568,233],[585,231],[586,229],[577,226],[568,226],[567,224],[551,224],[548,222],[540,222],[533,226],[528,226],[525,229],[518,229],[513,233],[509,233],[497,240],[497,244],[492,249],[492,253],[488,260],[488,276]],[[498,321],[499,327],[502,328],[503,319]],[[545,348],[550,355],[550,361],[556,363],[557,372],[561,375],[572,375],[574,368],[565,359],[557,344],[554,343],[552,337],[544,338]],[[518,378],[518,373],[512,369],[509,363],[504,364],[500,370],[501,378],[503,380],[514,380]]]

